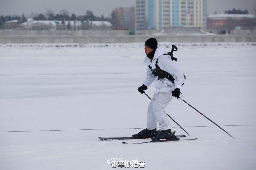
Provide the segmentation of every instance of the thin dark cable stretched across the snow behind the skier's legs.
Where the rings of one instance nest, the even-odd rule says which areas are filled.
[[[185,128],[194,128],[194,127],[214,127],[216,125],[211,126],[183,126]],[[248,124],[248,125],[221,125],[221,126],[256,126],[256,124]],[[160,127],[157,127],[160,128]],[[179,126],[175,126],[173,128],[179,128]],[[145,129],[145,128],[112,128],[112,129],[67,129],[67,130],[24,130],[24,131],[0,131],[0,133],[7,132],[51,132],[51,131],[76,131],[76,130],[119,130],[119,129]]]

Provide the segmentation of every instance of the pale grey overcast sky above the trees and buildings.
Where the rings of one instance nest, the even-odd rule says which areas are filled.
[[[117,7],[135,6],[136,0],[0,0],[0,15],[29,15],[31,12],[44,13],[51,9],[58,13],[66,9],[69,13],[84,15],[87,10],[93,11],[96,16],[103,14],[110,16],[111,10]],[[232,8],[247,9],[253,12],[256,0],[208,0],[208,13],[217,11],[224,13]]]

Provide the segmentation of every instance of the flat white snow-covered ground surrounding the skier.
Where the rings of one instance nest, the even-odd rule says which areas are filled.
[[[247,125],[222,126],[236,140],[178,99],[166,111],[198,140],[98,139],[146,126],[150,101],[137,91],[143,43],[0,44],[0,169],[112,169],[113,158],[145,161],[145,169],[256,169],[256,44],[175,45],[183,99],[219,125]],[[68,129],[90,130],[6,132]]]

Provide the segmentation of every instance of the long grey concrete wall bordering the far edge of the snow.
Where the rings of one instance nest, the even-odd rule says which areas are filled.
[[[132,43],[145,42],[150,35],[118,36],[2,36],[0,43]],[[256,35],[153,36],[159,42],[256,42]]]

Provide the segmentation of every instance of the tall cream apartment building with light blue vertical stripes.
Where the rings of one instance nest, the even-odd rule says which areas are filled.
[[[207,27],[207,0],[136,0],[136,29]]]

